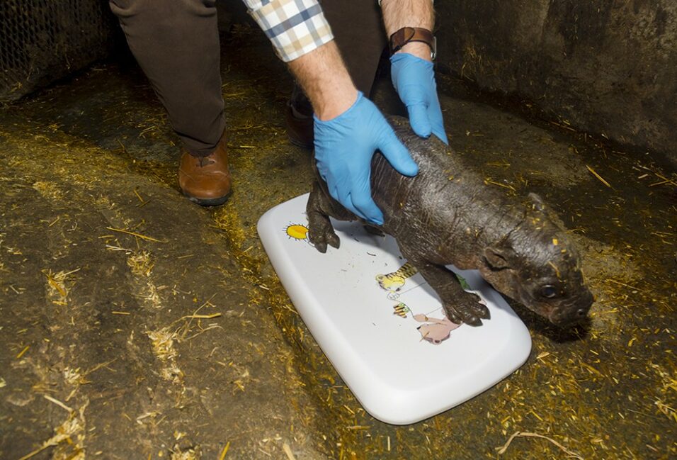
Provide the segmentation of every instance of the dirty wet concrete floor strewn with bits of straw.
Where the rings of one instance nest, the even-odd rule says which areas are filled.
[[[285,137],[291,80],[260,35],[224,42],[236,188],[220,208],[178,193],[177,139],[135,69],[101,64],[0,112],[0,457],[675,458],[669,162],[440,77],[457,155],[506,193],[542,194],[597,301],[569,333],[513,305],[533,336],[519,371],[430,420],[387,425],[326,361],[256,235],[311,180],[309,152]],[[499,454],[515,432],[542,437]]]

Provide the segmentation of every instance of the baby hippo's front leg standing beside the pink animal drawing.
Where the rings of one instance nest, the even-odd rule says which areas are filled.
[[[440,296],[447,318],[451,322],[481,326],[483,319],[491,318],[487,305],[480,303],[482,299],[477,294],[465,291],[453,271],[430,262],[415,261],[409,257],[407,259]]]

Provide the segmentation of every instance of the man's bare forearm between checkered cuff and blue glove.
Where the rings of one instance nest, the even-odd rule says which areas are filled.
[[[358,91],[334,41],[289,62],[289,68],[320,120],[341,115],[357,99]]]

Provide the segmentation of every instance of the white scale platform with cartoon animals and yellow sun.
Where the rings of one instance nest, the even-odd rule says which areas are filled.
[[[312,247],[307,199],[266,212],[258,234],[312,336],[373,417],[419,422],[477,396],[526,361],[527,328],[479,272],[448,267],[482,297],[491,320],[454,325],[394,238],[332,220],[340,249],[321,254]]]

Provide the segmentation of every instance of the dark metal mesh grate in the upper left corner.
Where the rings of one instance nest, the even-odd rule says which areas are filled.
[[[11,101],[105,57],[105,0],[0,0],[0,101]]]

